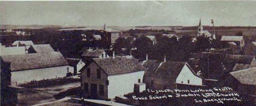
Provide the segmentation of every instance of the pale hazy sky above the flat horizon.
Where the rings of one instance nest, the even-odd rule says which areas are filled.
[[[0,24],[256,26],[256,1],[0,1]]]

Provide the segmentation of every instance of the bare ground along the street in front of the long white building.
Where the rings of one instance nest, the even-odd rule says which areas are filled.
[[[47,88],[25,89],[18,93],[18,105],[33,105],[56,101],[54,95],[80,86],[80,82],[56,85]]]

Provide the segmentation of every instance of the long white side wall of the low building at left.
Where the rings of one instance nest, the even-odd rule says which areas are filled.
[[[32,80],[52,79],[58,77],[65,77],[67,74],[67,67],[69,72],[73,70],[71,66],[58,66],[49,68],[39,68],[33,70],[13,71],[11,72],[11,84],[16,85]]]

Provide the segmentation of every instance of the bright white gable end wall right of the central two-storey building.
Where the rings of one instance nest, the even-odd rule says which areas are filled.
[[[189,83],[188,83],[189,80]],[[192,85],[202,85],[202,78],[195,76],[187,65],[185,65],[182,68],[181,73],[179,73],[179,76],[176,79],[176,83],[182,83],[183,84],[192,84]]]

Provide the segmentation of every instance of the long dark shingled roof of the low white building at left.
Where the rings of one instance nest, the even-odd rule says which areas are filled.
[[[11,71],[68,65],[60,52],[3,55],[1,59],[10,63]]]

